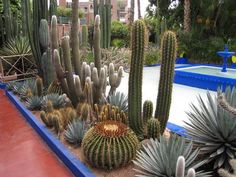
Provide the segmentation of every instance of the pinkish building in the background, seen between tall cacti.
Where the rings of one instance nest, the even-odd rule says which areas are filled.
[[[111,0],[112,4],[112,20],[119,20],[123,23],[128,22],[128,0]],[[59,0],[58,6],[71,8],[71,0]],[[90,24],[93,22],[94,9],[93,0],[79,1],[79,8],[84,13],[84,20],[82,23]]]

